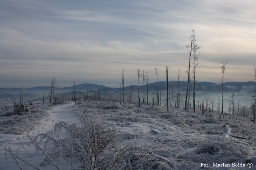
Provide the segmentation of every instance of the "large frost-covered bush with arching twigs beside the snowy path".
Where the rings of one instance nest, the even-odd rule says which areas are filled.
[[[116,147],[119,140],[121,137],[116,133],[116,129],[96,125],[93,119],[86,119],[83,116],[80,126],[59,122],[53,131],[39,134],[34,138],[37,144],[45,142],[44,150],[50,157],[46,156],[41,160],[42,164],[51,159],[57,162],[64,159],[70,160],[72,165],[72,161],[77,160],[80,168],[85,169],[94,169],[99,163],[115,166],[115,162],[111,163],[113,159],[102,161],[102,158],[105,152],[111,152],[112,148]]]

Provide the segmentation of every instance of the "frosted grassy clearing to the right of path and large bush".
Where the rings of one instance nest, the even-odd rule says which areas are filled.
[[[136,144],[137,146],[143,145],[141,148],[143,151],[165,156],[173,165],[176,164],[176,169],[201,168],[200,162],[247,163],[248,158],[250,160],[250,157],[255,154],[253,150],[255,130],[248,118],[237,117],[232,120],[231,115],[224,115],[226,118],[220,121],[219,113],[214,112],[206,112],[205,115],[201,115],[200,112],[188,115],[182,109],[177,108],[167,113],[163,107],[153,108],[144,105],[139,109],[127,103],[110,103],[110,105],[111,107],[98,115],[98,120],[99,117],[104,118],[102,122],[106,126],[118,129],[123,136],[124,143],[134,139],[139,143]],[[122,107],[126,109],[122,110]],[[250,139],[243,140],[230,136],[224,138],[226,130],[223,125],[225,124],[231,127],[232,134]],[[245,145],[242,140],[250,143],[249,146]],[[156,146],[164,150],[159,152]],[[174,166],[171,165],[170,168],[174,169]],[[218,169],[219,167],[210,168]],[[231,169],[236,169],[236,167]]]

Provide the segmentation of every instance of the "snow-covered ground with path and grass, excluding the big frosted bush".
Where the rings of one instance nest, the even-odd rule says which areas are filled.
[[[235,116],[232,119],[231,115],[224,114],[223,118],[222,115],[219,117],[220,113],[205,112],[202,115],[200,111],[188,114],[179,108],[169,108],[167,112],[165,107],[160,106],[141,104],[141,108],[138,108],[137,104],[110,101],[78,101],[77,104],[70,102],[48,109],[49,116],[42,117],[36,127],[29,130],[28,135],[32,139],[38,134],[47,133],[60,121],[81,126],[81,116],[91,117],[95,126],[100,124],[120,134],[116,135],[121,136],[118,141],[120,150],[129,146],[124,155],[116,151],[116,155],[126,161],[127,169],[256,167],[256,130],[255,124],[248,117]],[[39,156],[37,155],[34,145],[25,133],[0,134],[0,169],[19,169],[12,155],[5,153],[6,146],[39,169],[57,169],[53,163],[40,166],[39,158],[44,154],[39,152]],[[63,133],[65,136],[65,132]],[[108,150],[105,155],[109,154],[109,148],[105,149]],[[103,155],[98,160],[104,160]],[[19,159],[18,161],[23,169],[33,169]],[[249,168],[248,164],[253,167]],[[230,167],[220,167],[225,165]],[[72,169],[70,161],[65,158],[59,163],[56,161],[56,166],[59,169]],[[78,168],[75,163],[73,166]]]

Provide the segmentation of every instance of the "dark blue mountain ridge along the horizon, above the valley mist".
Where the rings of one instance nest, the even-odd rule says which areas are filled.
[[[225,91],[236,91],[236,92],[240,92],[240,93],[244,93],[244,92],[248,92],[248,91],[253,91],[255,89],[255,82],[226,82],[223,84],[224,85],[224,89]],[[158,84],[156,82],[154,83],[149,83],[148,84],[148,90],[152,91],[152,90],[157,90],[157,86],[158,86],[158,91],[161,90],[166,90],[166,82],[165,81],[161,81],[158,82]],[[177,88],[178,87],[178,81],[170,81],[168,82],[168,86],[170,88]],[[136,85],[131,85],[131,86],[126,86],[125,90],[127,91],[127,89],[134,91],[135,89],[137,89],[138,86]],[[101,89],[102,91],[106,91],[109,90],[110,87],[107,86],[103,86],[103,85],[98,85],[98,84],[91,84],[91,83],[82,83],[82,84],[78,84],[75,85],[76,90],[79,91],[86,91],[87,88],[90,91],[91,90],[99,90]],[[143,85],[139,86],[140,90],[143,89]],[[146,88],[146,85],[145,85]],[[179,81],[179,88],[181,91],[185,91],[187,89],[187,81]],[[217,91],[217,89],[219,88],[219,90],[222,89],[222,84],[216,84],[216,83],[211,83],[211,82],[195,82],[195,89],[198,91]],[[45,90],[45,91],[49,91],[50,86],[37,86],[37,87],[30,87],[30,88],[23,88],[23,90]],[[113,89],[113,91],[115,90],[120,90],[119,87],[111,87],[111,89]],[[12,91],[12,90],[21,90],[21,88],[0,88],[0,91],[3,91],[4,93],[8,93],[8,91]],[[60,91],[72,91],[73,90],[73,86],[70,87],[55,87],[54,88],[55,92],[57,92],[58,90]]]

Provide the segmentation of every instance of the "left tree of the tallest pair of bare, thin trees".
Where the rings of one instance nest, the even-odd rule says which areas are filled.
[[[189,81],[190,81],[190,61],[191,61],[191,55],[193,53],[193,42],[194,42],[194,30],[192,30],[192,34],[190,35],[190,43],[186,45],[186,48],[188,50],[188,55],[189,55],[189,61],[188,61],[188,83],[187,83],[187,91],[186,91],[186,98],[185,98],[185,109],[187,109],[187,97],[188,97],[188,88],[189,88]],[[189,107],[189,106],[188,106]]]

